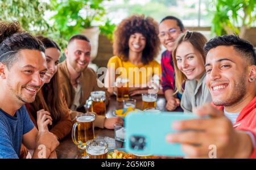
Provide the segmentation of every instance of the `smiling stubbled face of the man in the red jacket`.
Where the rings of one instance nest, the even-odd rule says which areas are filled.
[[[250,73],[245,58],[233,46],[210,49],[205,63],[206,84],[215,105],[229,106],[243,100]]]

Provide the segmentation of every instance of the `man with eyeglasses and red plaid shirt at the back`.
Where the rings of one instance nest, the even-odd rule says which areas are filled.
[[[175,72],[174,63],[172,61],[172,49],[174,42],[181,33],[185,32],[185,28],[180,19],[175,16],[166,16],[159,24],[159,39],[166,51],[162,53],[162,86],[164,96],[166,97],[166,109],[174,111],[180,105],[181,95],[177,98],[173,96],[175,91]]]

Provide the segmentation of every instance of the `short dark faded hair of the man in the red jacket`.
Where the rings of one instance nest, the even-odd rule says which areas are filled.
[[[235,35],[214,37],[205,44],[205,53],[208,53],[210,49],[221,45],[233,46],[238,53],[242,54],[242,56],[246,58],[250,65],[256,65],[256,54],[253,45],[251,45],[249,41],[243,40]]]

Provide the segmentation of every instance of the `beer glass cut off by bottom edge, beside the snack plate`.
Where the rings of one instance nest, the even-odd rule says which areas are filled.
[[[103,139],[93,139],[86,143],[86,152],[90,159],[106,159],[108,143]]]

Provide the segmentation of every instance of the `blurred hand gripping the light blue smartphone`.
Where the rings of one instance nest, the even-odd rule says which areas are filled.
[[[172,128],[180,132],[166,137],[167,142],[181,143],[186,158],[210,158],[210,146],[216,148],[216,158],[249,158],[250,136],[235,130],[222,111],[206,104],[193,112],[201,118],[175,122]]]

